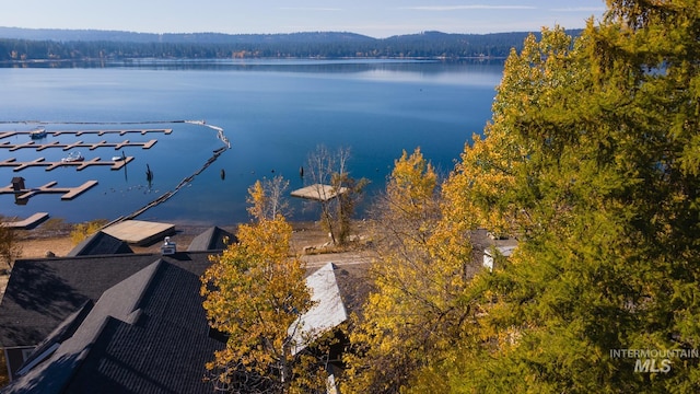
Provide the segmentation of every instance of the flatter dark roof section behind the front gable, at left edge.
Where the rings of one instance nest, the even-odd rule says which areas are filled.
[[[40,344],[88,301],[162,259],[200,276],[209,253],[122,254],[16,260],[0,303],[0,346]]]

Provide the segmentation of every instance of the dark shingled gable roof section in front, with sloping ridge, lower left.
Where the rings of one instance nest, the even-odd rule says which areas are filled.
[[[209,335],[200,286],[199,274],[156,259],[107,289],[82,320],[70,316],[67,326],[81,320],[72,335],[3,392],[211,392],[205,363],[225,343]]]

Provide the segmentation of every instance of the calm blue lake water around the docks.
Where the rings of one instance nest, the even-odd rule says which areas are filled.
[[[158,143],[149,150],[125,148],[127,155],[135,157],[126,171],[93,166],[14,172],[0,167],[0,186],[9,185],[14,176],[25,178],[27,187],[51,181],[58,182],[56,187],[98,182],[71,201],[46,194],[22,206],[13,195],[0,195],[0,215],[24,218],[46,211],[70,222],[129,215],[172,190],[222,147],[213,129],[168,123],[205,119],[224,129],[231,149],[165,204],[138,217],[194,224],[247,220],[246,190],[256,179],[283,175],[290,181],[289,192],[304,186],[299,169],[318,144],[330,150],[350,148],[351,175],[372,182],[365,200],[383,189],[401,150],[420,147],[446,174],[471,135],[482,132],[490,119],[494,89],[503,71],[498,61],[209,60],[48,66],[0,68],[0,132],[30,130],[36,126],[32,121],[45,123],[49,132],[145,128],[172,128],[173,132],[49,135],[40,142],[158,139]],[[27,135],[15,135],[1,139],[0,144],[27,141]],[[114,148],[75,150],[86,160],[110,160],[121,153]],[[0,162],[9,158],[60,161],[68,153],[58,148],[37,152],[0,147]],[[147,164],[154,175],[150,186]],[[224,179],[221,170],[225,171]],[[292,201],[293,220],[316,218],[313,205]]]

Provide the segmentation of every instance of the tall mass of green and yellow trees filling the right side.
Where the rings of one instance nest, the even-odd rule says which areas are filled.
[[[698,358],[644,370],[616,354],[700,345],[699,3],[608,3],[573,45],[545,30],[511,55],[493,124],[445,186],[462,220],[520,245],[465,291],[475,335],[418,392],[438,376],[458,392],[700,390]]]

